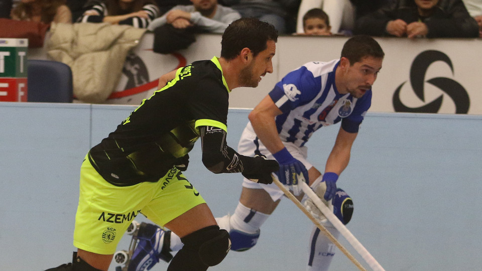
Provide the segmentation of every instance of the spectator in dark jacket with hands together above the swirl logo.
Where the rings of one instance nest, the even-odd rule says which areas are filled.
[[[408,38],[478,37],[462,0],[398,0],[357,20],[354,34]]]

